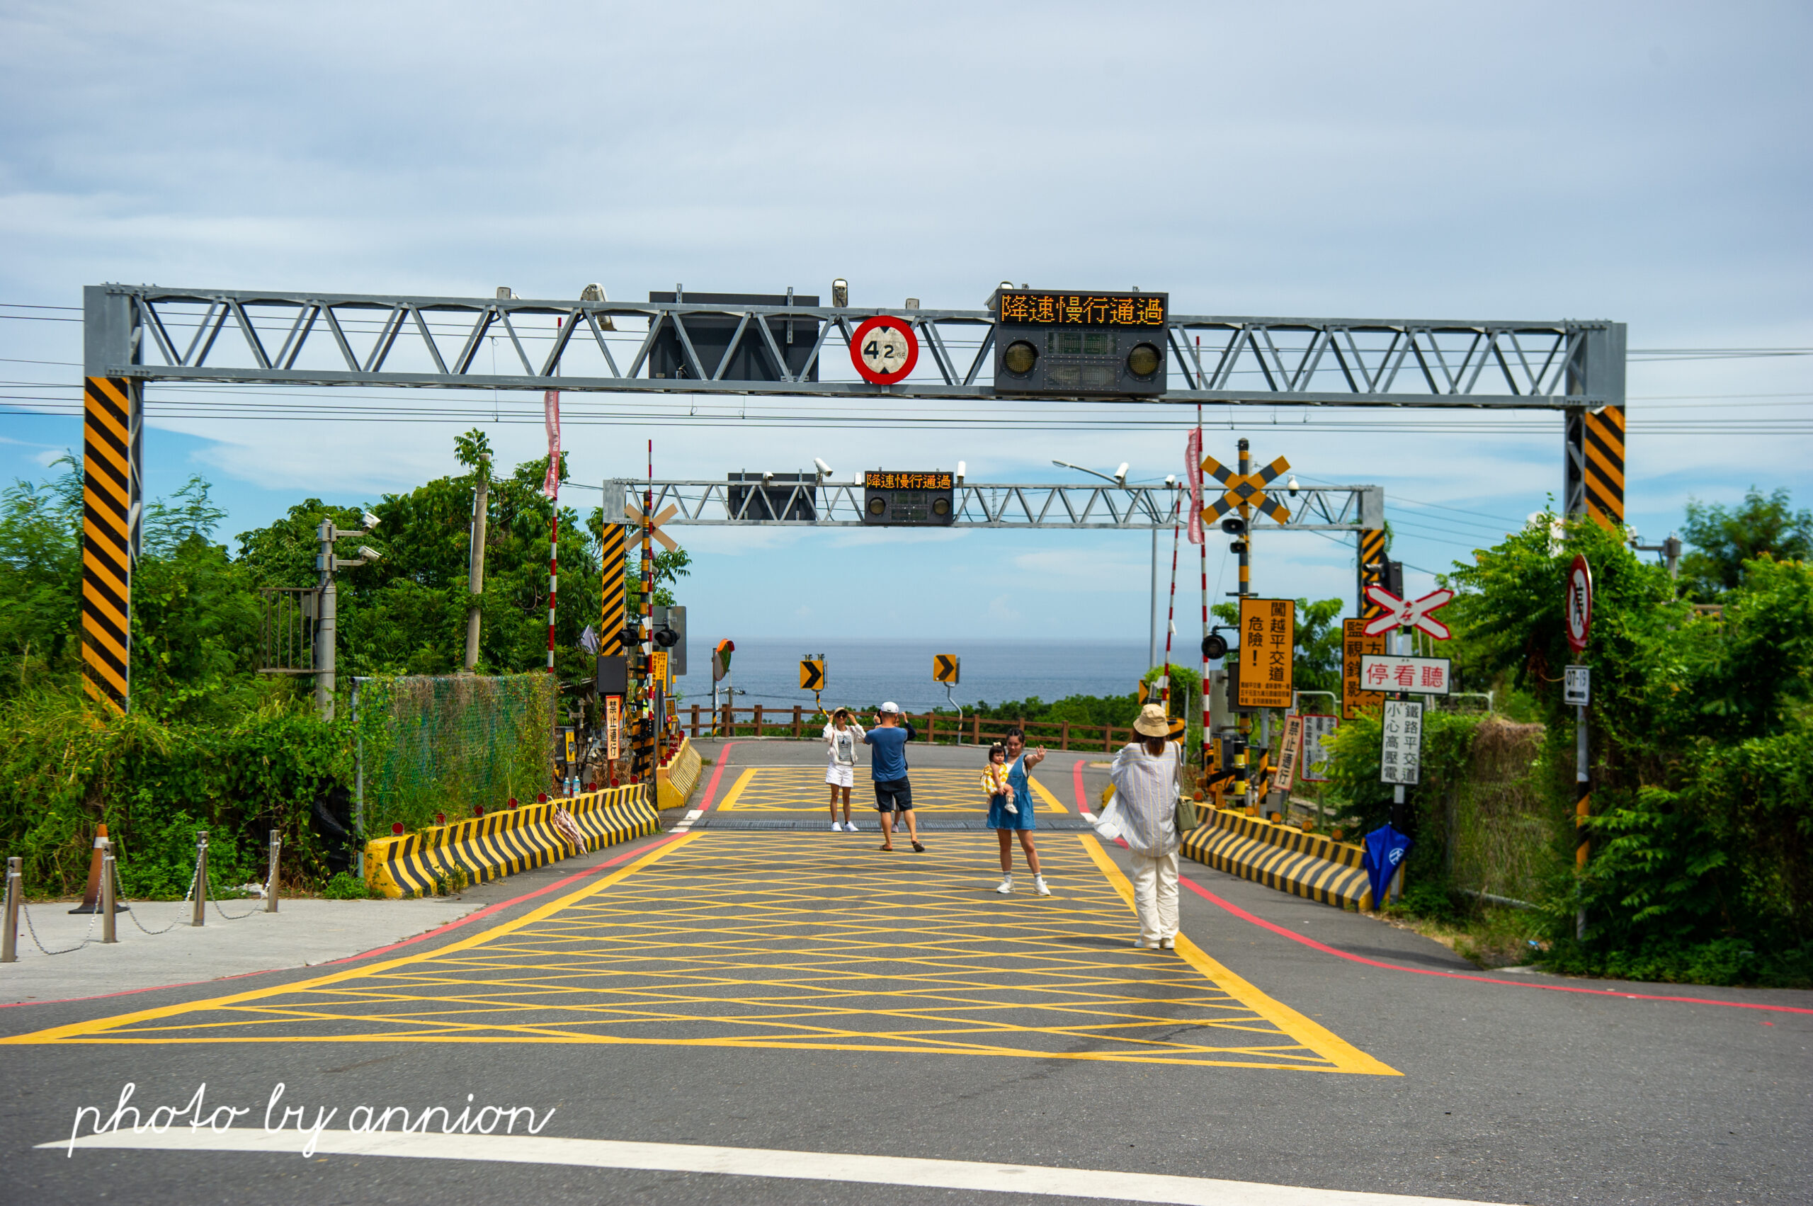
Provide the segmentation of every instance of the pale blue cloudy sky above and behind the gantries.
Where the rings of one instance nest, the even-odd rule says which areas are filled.
[[[1813,11],[1793,4],[0,5],[0,481],[80,450],[82,287],[975,308],[997,281],[1178,314],[1630,325],[1628,519],[1809,504]],[[1733,355],[1735,348],[1797,354]],[[1675,350],[1675,354],[1661,354]],[[1679,350],[1713,350],[1681,355]],[[319,394],[319,390],[315,392]],[[274,397],[274,395],[272,395]],[[421,395],[413,395],[415,401]],[[230,399],[238,413],[259,395]],[[305,497],[544,455],[538,399],[459,421],[225,419],[147,392],[145,475],[218,539]],[[954,468],[1180,473],[1168,430],[698,423],[575,399],[573,482]],[[484,413],[486,406],[493,410]],[[910,417],[910,415],[908,415]],[[1407,588],[1561,493],[1561,419],[1211,408],[1206,446],[1385,488]],[[1146,533],[682,528],[694,635],[1146,640]],[[1169,579],[1169,535],[1160,548]],[[1186,546],[1186,553],[1193,550]],[[1352,544],[1255,542],[1262,595],[1354,593]],[[1211,591],[1233,589],[1226,540]],[[1178,624],[1198,615],[1184,559]],[[1160,598],[1160,613],[1164,600]]]

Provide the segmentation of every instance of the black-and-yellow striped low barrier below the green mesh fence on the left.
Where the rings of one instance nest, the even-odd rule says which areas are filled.
[[[573,816],[580,843],[555,827],[555,809]],[[364,845],[364,880],[392,900],[433,896],[461,881],[502,880],[658,829],[660,814],[644,785],[611,787],[377,838]]]

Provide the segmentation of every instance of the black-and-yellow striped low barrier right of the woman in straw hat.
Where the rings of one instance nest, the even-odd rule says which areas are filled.
[[[1184,834],[1184,856],[1265,887],[1334,905],[1371,909],[1372,885],[1358,845],[1309,834],[1238,809],[1209,809],[1209,822]]]

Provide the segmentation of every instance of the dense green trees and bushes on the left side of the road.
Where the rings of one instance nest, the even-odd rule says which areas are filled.
[[[482,433],[462,435],[455,455],[464,473],[370,504],[379,526],[359,542],[383,560],[337,575],[343,696],[355,675],[386,680],[461,667],[473,490],[477,475],[490,472],[488,452]],[[482,675],[546,666],[553,520],[540,493],[546,468],[546,459],[531,461],[490,484]],[[199,477],[152,501],[132,575],[132,713],[107,716],[82,702],[80,686],[82,472],[67,457],[53,470],[45,482],[0,491],[0,724],[11,736],[0,751],[9,787],[0,802],[0,843],[27,860],[29,890],[80,890],[96,823],[120,840],[129,894],[181,896],[196,829],[210,831],[219,883],[261,878],[267,831],[277,829],[285,880],[319,885],[344,863],[359,733],[344,698],[337,718],[323,722],[308,678],[256,673],[259,588],[314,586],[317,524],[361,526],[363,508],[308,499],[239,533],[234,553],[216,542],[225,511]],[[600,508],[587,519],[582,524],[577,511],[560,510],[562,575],[587,584],[558,611],[564,680],[589,673],[578,635],[596,622],[591,584]],[[656,598],[673,602],[671,584],[687,573],[685,551],[662,553],[654,569]],[[631,557],[633,604],[640,602],[638,575]],[[388,740],[384,698],[379,691],[377,711],[366,707],[361,718],[372,758]],[[528,774],[506,763],[499,773]],[[399,807],[406,816],[397,820],[410,823],[435,811],[413,796]],[[379,820],[388,825],[392,818]]]

